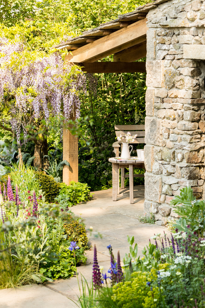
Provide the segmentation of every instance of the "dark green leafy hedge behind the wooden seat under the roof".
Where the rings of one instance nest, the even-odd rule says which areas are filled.
[[[89,87],[94,82],[98,82],[97,96]],[[79,180],[88,183],[91,190],[100,190],[102,186],[112,187],[112,164],[108,158],[114,156],[114,125],[144,124],[145,74],[98,74],[97,81],[88,78],[88,90],[87,95],[81,96],[81,115],[88,117],[87,122],[81,124],[81,129],[86,131],[85,139],[90,142],[92,151],[81,138]],[[135,172],[143,171],[136,169]],[[144,183],[143,178],[135,178],[134,181],[135,185]]]

